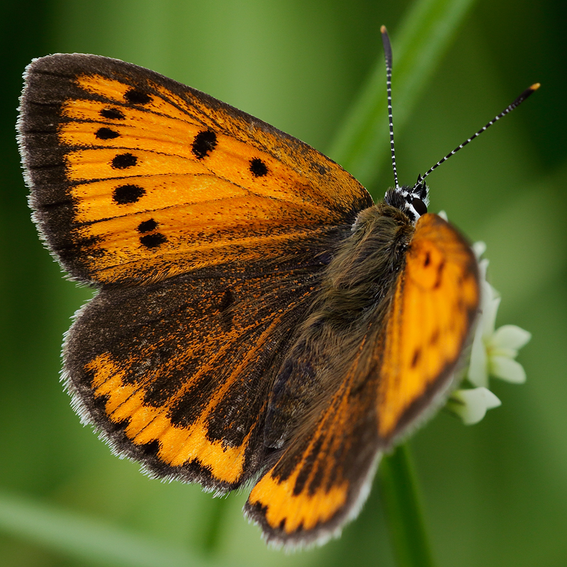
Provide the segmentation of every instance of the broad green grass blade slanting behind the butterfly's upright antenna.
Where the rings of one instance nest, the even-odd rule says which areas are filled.
[[[417,0],[392,38],[393,115],[399,133],[412,108],[449,49],[475,0]],[[380,33],[378,28],[376,33]],[[369,80],[335,136],[330,157],[368,186],[388,149],[386,67],[377,58]]]

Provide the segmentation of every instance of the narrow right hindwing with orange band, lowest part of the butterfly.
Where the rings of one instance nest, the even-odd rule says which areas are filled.
[[[325,400],[304,416],[252,488],[245,512],[271,543],[322,543],[364,503],[378,456],[377,385],[374,377],[359,382],[364,347],[354,354],[347,373],[330,381]],[[337,354],[331,357],[337,361]]]

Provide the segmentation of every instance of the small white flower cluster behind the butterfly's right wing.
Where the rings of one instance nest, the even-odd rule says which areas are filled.
[[[488,260],[480,260],[485,249],[484,242],[473,245],[479,259],[481,308],[466,378],[476,388],[456,390],[447,401],[447,409],[459,415],[466,425],[479,422],[486,410],[500,405],[500,400],[488,390],[489,376],[517,384],[526,381],[524,368],[515,358],[518,350],[532,338],[529,332],[516,325],[503,325],[495,330],[500,296],[486,281]]]

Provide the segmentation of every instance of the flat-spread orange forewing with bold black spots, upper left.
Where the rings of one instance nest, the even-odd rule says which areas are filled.
[[[18,130],[35,220],[86,281],[309,257],[372,204],[303,142],[106,57],[34,60]]]

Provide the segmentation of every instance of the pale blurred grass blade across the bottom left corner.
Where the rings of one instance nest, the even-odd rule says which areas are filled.
[[[89,564],[128,567],[213,567],[185,549],[131,534],[76,512],[0,493],[0,530]]]

